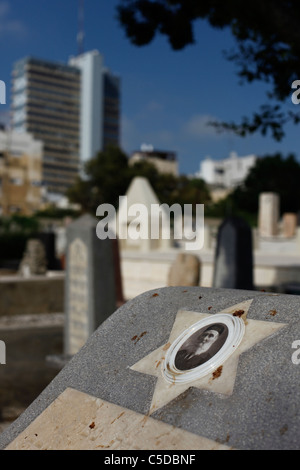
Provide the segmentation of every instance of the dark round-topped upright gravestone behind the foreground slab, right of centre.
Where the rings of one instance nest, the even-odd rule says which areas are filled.
[[[253,289],[252,232],[240,217],[229,216],[219,227],[213,287]]]

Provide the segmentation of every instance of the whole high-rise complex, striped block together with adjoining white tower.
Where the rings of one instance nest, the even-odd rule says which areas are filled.
[[[90,51],[68,64],[31,57],[13,69],[12,123],[44,142],[43,184],[64,194],[83,164],[119,145],[120,80]]]

